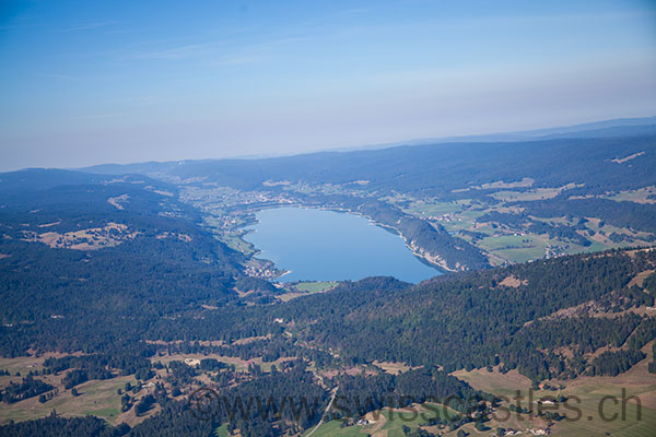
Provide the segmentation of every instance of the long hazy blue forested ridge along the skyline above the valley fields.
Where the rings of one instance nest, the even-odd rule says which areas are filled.
[[[374,151],[325,152],[262,160],[216,160],[171,164],[90,167],[92,173],[127,172],[197,178],[243,190],[267,180],[348,184],[366,180],[366,191],[424,191],[443,197],[452,190],[496,180],[530,177],[536,186],[585,184],[596,192],[656,184],[651,169],[656,137],[555,139],[520,142],[437,143]],[[644,152],[629,165],[612,162]],[[628,163],[629,164],[629,163]],[[455,194],[452,194],[455,196]]]

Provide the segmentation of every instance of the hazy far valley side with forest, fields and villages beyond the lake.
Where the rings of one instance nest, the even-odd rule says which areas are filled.
[[[87,170],[165,180],[223,223],[290,204],[364,214],[447,271],[653,245],[656,137],[577,133]],[[219,233],[239,236],[238,226]]]

